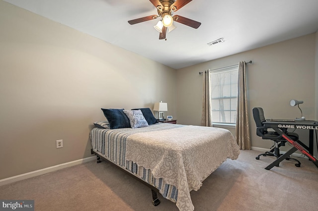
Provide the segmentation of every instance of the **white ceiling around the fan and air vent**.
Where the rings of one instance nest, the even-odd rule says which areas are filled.
[[[174,14],[198,22],[159,40],[149,0],[4,0],[174,69],[300,37],[318,30],[318,0],[192,0]],[[224,43],[207,43],[223,38]]]

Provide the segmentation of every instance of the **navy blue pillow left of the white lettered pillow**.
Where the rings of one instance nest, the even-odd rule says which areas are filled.
[[[110,129],[116,128],[126,128],[130,127],[129,118],[124,113],[123,109],[115,109],[115,108],[101,108],[106,119],[109,122]]]

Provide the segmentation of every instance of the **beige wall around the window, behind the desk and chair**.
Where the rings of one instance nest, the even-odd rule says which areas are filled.
[[[293,119],[301,115],[297,106],[289,105],[291,99],[296,99],[304,101],[301,108],[305,117],[315,119],[316,39],[316,33],[310,34],[177,70],[178,123],[201,124],[202,75],[199,72],[252,60],[253,63],[247,65],[252,147],[269,149],[272,142],[264,141],[255,134],[251,110],[260,106],[266,118]],[[235,134],[233,128],[230,130]],[[296,132],[302,134],[305,140],[307,133]]]

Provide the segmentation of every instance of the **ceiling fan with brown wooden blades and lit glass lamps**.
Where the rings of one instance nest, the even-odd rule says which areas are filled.
[[[154,28],[160,33],[159,40],[165,39],[167,31],[171,32],[173,29],[176,28],[173,25],[173,21],[197,29],[201,25],[200,22],[191,20],[180,15],[173,15],[175,11],[179,10],[181,7],[183,7],[190,1],[192,0],[150,0],[150,2],[152,2],[152,4],[154,4],[154,6],[157,8],[158,15],[149,15],[146,17],[129,20],[128,23],[133,25],[136,23],[153,20],[160,17],[161,20],[159,20],[159,22],[154,26]]]

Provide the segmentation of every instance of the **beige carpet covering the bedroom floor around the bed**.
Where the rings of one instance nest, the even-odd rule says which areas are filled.
[[[213,152],[212,152],[213,153]],[[302,167],[284,160],[264,169],[272,157],[241,151],[213,172],[200,190],[192,191],[195,211],[318,210],[318,167],[300,158]],[[152,205],[151,190],[103,161],[87,162],[0,186],[0,199],[35,200],[36,211],[177,211],[162,198]]]

